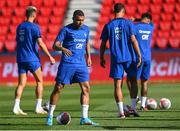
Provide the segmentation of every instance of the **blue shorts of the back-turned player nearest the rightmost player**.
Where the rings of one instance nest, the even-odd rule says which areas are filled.
[[[122,79],[125,71],[127,73],[127,77],[135,77],[135,68],[135,64],[133,64],[131,61],[123,63],[111,63],[109,76],[115,79]]]

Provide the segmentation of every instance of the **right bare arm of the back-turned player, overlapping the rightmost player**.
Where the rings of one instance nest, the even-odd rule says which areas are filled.
[[[131,41],[132,41],[132,44],[133,44],[133,48],[138,56],[138,64],[137,64],[137,67],[139,67],[141,65],[141,62],[142,62],[142,58],[141,58],[141,52],[140,52],[140,49],[139,49],[139,45],[138,45],[138,41],[135,37],[135,35],[131,35]]]

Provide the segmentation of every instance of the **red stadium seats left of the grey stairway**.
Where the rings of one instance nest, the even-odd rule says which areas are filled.
[[[68,0],[0,0],[0,52],[14,52],[15,33],[18,24],[25,19],[25,9],[33,5],[38,8],[37,23],[42,38],[51,50],[59,29],[62,27]]]

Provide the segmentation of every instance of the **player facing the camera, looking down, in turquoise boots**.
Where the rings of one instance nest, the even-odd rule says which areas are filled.
[[[89,72],[87,66],[91,66],[89,28],[84,23],[84,12],[75,10],[73,23],[65,26],[58,34],[53,49],[62,51],[61,61],[56,76],[56,84],[50,97],[50,108],[47,117],[47,125],[53,125],[53,112],[55,110],[59,94],[66,84],[79,83],[81,88],[82,116],[80,125],[97,125],[88,117],[89,108]],[[87,62],[85,59],[87,55]],[[86,64],[87,63],[87,64]]]

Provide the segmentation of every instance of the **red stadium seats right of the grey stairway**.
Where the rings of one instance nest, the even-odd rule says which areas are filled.
[[[100,47],[101,31],[104,25],[112,18],[112,6],[116,2],[121,2],[121,0],[104,0],[102,3],[96,35],[93,41],[93,46],[96,49]],[[123,0],[122,3],[126,7],[126,18],[140,17],[140,14],[147,11],[152,14],[155,26],[152,48],[180,48],[179,0]],[[106,9],[106,13],[104,13],[104,9]]]

